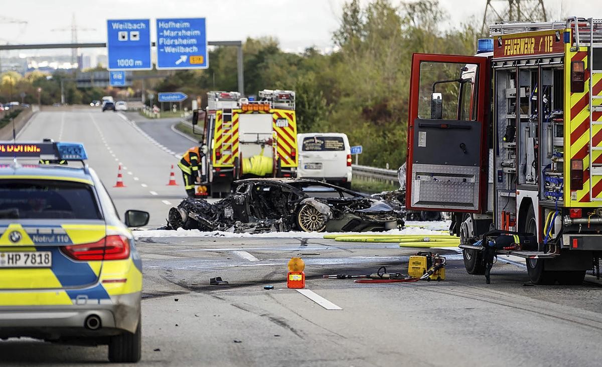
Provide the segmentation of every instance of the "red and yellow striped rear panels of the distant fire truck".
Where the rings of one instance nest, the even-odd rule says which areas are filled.
[[[223,122],[223,111],[216,112],[214,131],[213,166],[232,167],[238,156],[238,119],[243,113],[267,113],[264,111],[232,110],[232,134],[228,134],[228,123]],[[282,167],[297,167],[297,120],[295,111],[270,109],[272,128],[276,132],[277,156]],[[286,120],[286,126],[278,126],[278,120]],[[217,157],[220,157],[219,159]]]

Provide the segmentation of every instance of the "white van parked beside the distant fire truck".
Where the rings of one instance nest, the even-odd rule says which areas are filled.
[[[324,180],[351,187],[351,147],[346,134],[308,132],[297,134],[297,177]]]

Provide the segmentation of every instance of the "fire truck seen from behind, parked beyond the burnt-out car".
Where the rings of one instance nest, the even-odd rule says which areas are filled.
[[[204,120],[202,170],[211,196],[224,196],[242,178],[296,176],[294,91],[266,89],[256,100],[209,91]],[[193,117],[193,127],[196,122]]]

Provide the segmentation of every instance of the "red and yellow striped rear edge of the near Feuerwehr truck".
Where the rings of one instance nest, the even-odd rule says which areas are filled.
[[[592,147],[602,147],[602,125],[592,125],[590,131],[589,111],[589,83],[592,83],[594,96],[602,95],[602,75],[589,72],[588,48],[582,47],[579,51],[572,52],[571,45],[566,44],[565,63],[565,193],[566,206],[599,206],[600,202],[592,200],[602,199],[602,176],[591,176],[589,171],[589,139],[592,137]],[[571,62],[585,62],[585,88],[582,93],[571,93]],[[594,99],[594,105],[599,105],[600,99]],[[602,122],[602,113],[592,113],[594,122]],[[594,164],[602,164],[602,150],[592,150]],[[574,190],[571,185],[571,160],[583,161],[583,188]]]

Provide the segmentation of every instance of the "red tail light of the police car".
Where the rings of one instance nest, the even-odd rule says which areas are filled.
[[[129,258],[129,240],[126,236],[110,235],[98,242],[64,246],[61,250],[78,261],[123,260]]]

